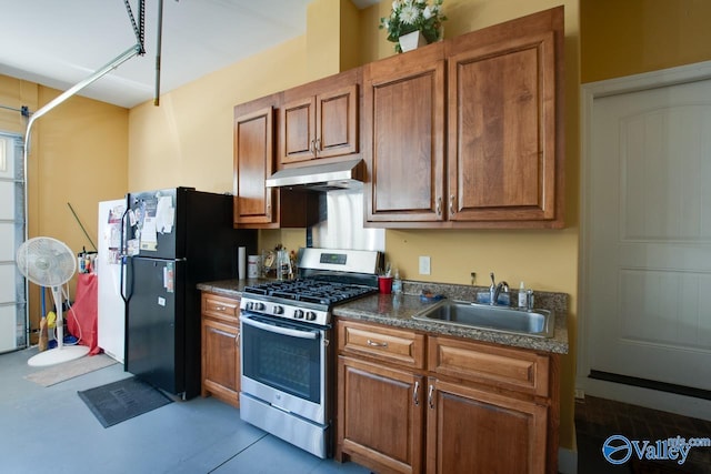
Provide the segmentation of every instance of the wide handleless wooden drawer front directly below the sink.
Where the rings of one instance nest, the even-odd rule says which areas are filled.
[[[549,395],[545,355],[441,336],[430,336],[428,350],[431,372],[531,395]]]

